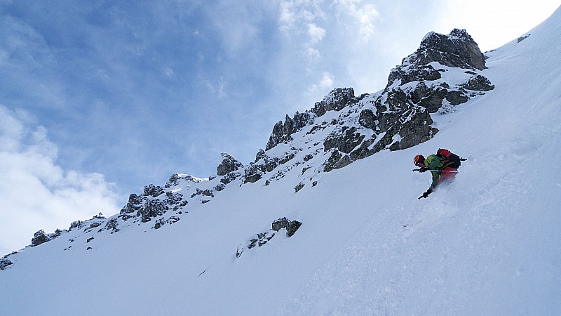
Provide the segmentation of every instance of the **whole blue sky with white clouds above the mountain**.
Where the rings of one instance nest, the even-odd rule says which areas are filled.
[[[427,32],[482,51],[560,1],[0,0],[0,253],[175,172],[249,164],[332,88],[384,88]]]

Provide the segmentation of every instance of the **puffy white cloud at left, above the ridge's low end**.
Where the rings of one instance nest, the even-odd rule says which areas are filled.
[[[57,155],[45,128],[0,105],[0,254],[30,244],[39,229],[67,229],[74,220],[118,211],[104,176],[65,171]]]

